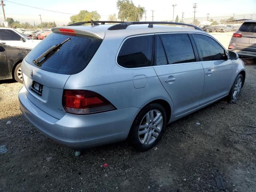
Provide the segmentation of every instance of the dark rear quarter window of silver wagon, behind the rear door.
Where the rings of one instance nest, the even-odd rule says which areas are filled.
[[[129,38],[120,49],[117,62],[126,68],[151,66],[152,46],[152,35]]]

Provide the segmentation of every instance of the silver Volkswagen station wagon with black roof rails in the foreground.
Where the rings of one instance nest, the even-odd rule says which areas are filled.
[[[196,26],[86,23],[53,28],[22,62],[22,113],[61,144],[148,150],[166,124],[240,94],[244,63]]]

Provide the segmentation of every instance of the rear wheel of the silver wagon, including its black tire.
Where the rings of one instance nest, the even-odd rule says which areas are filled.
[[[132,146],[139,151],[151,149],[161,140],[165,127],[166,112],[163,106],[157,103],[149,104],[139,112],[132,124],[130,132]]]

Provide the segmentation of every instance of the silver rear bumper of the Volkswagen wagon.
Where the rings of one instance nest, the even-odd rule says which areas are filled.
[[[52,140],[72,148],[87,148],[125,140],[139,108],[131,107],[91,115],[66,113],[54,118],[35,106],[19,92],[20,109],[25,118]]]

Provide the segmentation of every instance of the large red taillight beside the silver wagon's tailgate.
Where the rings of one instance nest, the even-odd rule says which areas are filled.
[[[64,90],[62,103],[66,112],[73,114],[90,114],[114,110],[108,100],[88,90]]]

